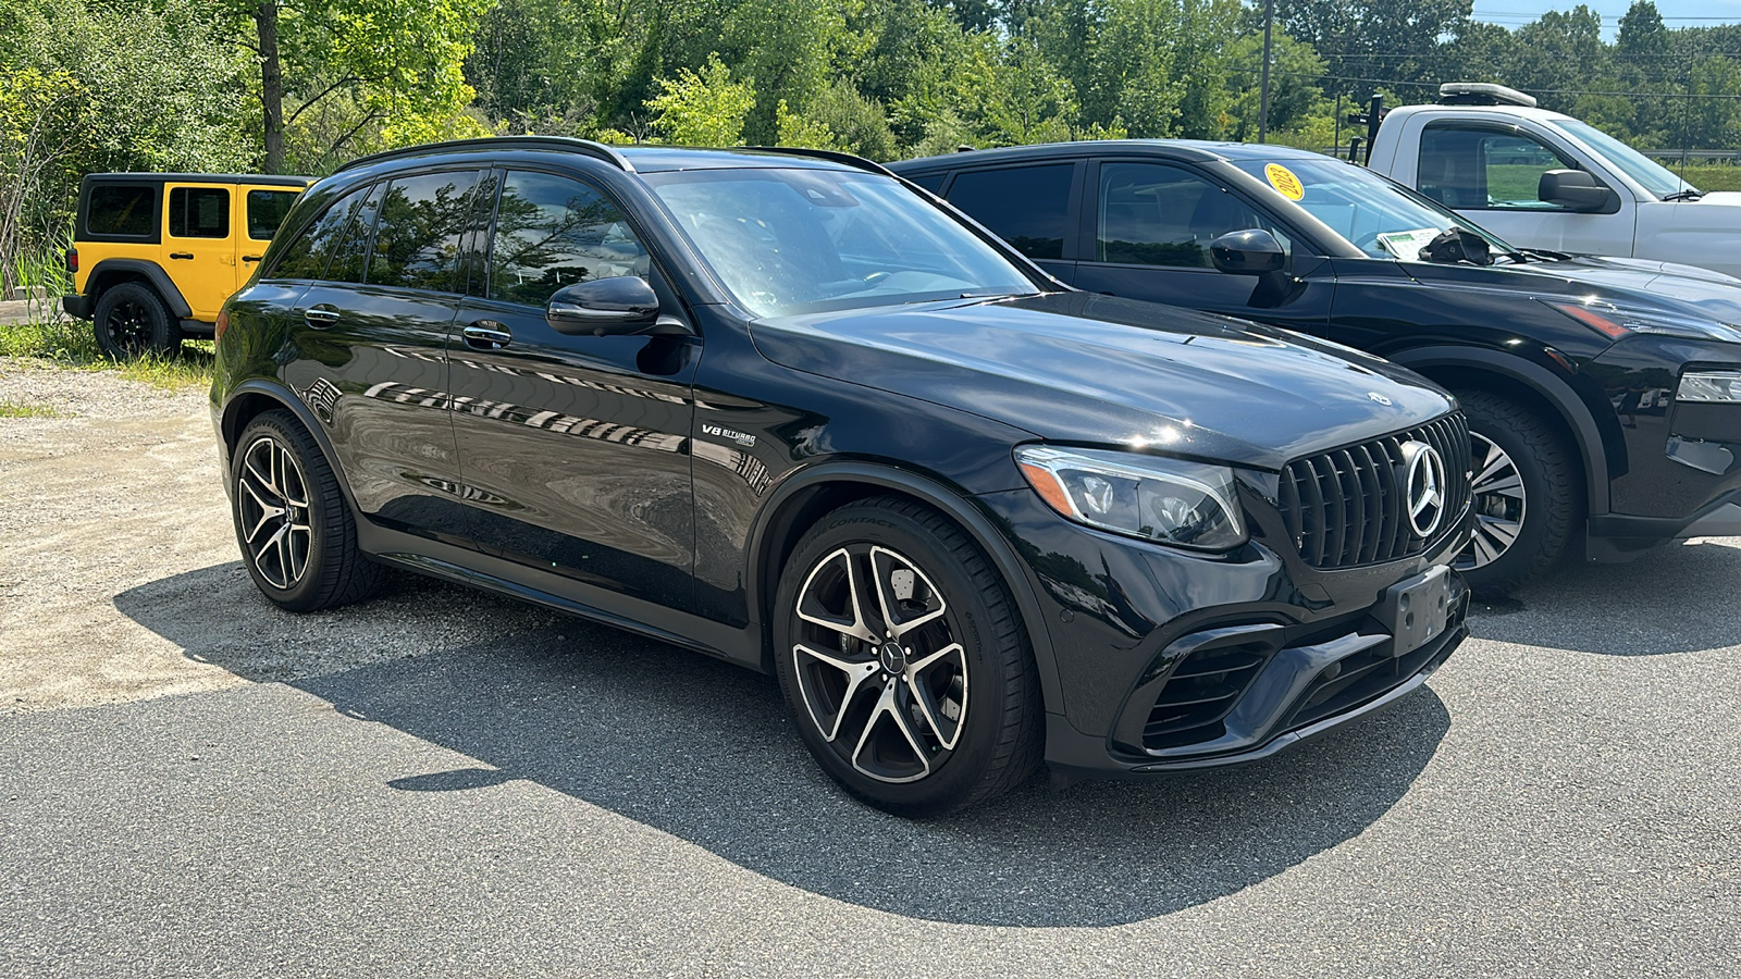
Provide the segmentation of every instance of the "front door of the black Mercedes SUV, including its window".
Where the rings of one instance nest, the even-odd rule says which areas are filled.
[[[552,293],[576,282],[639,275],[663,308],[677,301],[602,188],[534,169],[496,179],[453,343],[470,533],[528,568],[689,610],[700,340],[552,329]]]

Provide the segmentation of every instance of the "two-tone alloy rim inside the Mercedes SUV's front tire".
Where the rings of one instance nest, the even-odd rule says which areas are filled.
[[[810,570],[794,615],[804,712],[846,763],[916,782],[949,760],[968,709],[966,650],[945,596],[912,559],[839,547]]]

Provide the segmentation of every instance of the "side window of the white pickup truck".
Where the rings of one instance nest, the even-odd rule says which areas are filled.
[[[1560,211],[1537,190],[1541,174],[1567,169],[1577,164],[1527,132],[1435,124],[1421,132],[1415,185],[1452,209]]]

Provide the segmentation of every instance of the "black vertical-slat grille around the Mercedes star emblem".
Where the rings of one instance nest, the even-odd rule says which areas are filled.
[[[1426,442],[1445,460],[1445,517],[1424,538],[1408,524],[1403,446]],[[1461,411],[1419,429],[1297,458],[1281,472],[1281,519],[1313,568],[1353,568],[1421,554],[1445,538],[1469,502],[1469,423]]]

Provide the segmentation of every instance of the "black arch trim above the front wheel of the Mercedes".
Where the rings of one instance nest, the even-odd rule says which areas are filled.
[[[973,505],[970,496],[963,496],[937,479],[893,465],[872,462],[823,462],[780,481],[768,500],[763,502],[761,509],[757,509],[756,519],[750,524],[749,564],[745,566],[743,582],[752,629],[757,629],[763,636],[770,636],[763,610],[771,596],[764,594],[763,589],[763,568],[770,561],[768,547],[771,533],[780,530],[780,517],[785,516],[783,512],[789,503],[797,500],[806,490],[818,490],[830,483],[857,483],[862,486],[869,484],[897,490],[930,507],[935,507],[944,516],[956,521],[956,524],[963,528],[970,538],[973,538],[973,544],[977,544],[980,550],[991,557],[992,566],[998,570],[998,575],[1010,589],[1010,596],[1015,599],[1015,608],[1022,617],[1022,631],[1027,632],[1029,648],[1034,650],[1034,665],[1039,672],[1039,690],[1041,699],[1045,700],[1045,711],[1048,714],[1064,712],[1064,690],[1059,683],[1059,662],[1052,646],[1052,632],[1046,629],[1046,618],[1041,611],[1039,598],[1034,592],[1025,564],[1017,559],[1015,549],[998,531],[991,517]],[[771,638],[768,641],[771,643]],[[771,655],[771,646],[764,648],[764,655]]]

